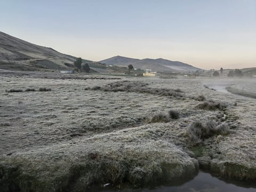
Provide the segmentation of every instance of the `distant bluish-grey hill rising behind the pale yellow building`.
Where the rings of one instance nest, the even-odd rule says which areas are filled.
[[[202,70],[187,63],[180,61],[170,61],[166,59],[132,59],[121,56],[112,57],[99,61],[101,63],[106,63],[107,65],[119,65],[128,66],[132,65],[134,68],[140,69],[151,69],[158,72],[173,72],[173,73],[187,73],[189,71]]]

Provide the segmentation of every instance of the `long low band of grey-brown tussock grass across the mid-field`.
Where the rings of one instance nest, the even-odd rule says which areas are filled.
[[[180,89],[172,90],[172,89],[164,89],[164,88],[154,88],[148,87],[147,83],[143,82],[132,82],[132,81],[118,81],[114,83],[110,83],[107,85],[94,86],[91,90],[103,90],[103,91],[127,91],[127,92],[137,92],[137,93],[149,93],[149,94],[156,94],[156,95],[164,95],[164,96],[171,96],[177,97],[181,96]]]

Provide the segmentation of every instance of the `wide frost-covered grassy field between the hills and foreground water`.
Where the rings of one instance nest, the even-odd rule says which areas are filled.
[[[148,185],[193,177],[198,164],[225,177],[255,180],[255,99],[203,86],[220,84],[219,79],[94,77],[0,77],[0,189],[10,190],[10,183],[33,191],[79,191],[108,182]],[[175,97],[87,89],[117,81],[181,92]],[[253,80],[239,83],[256,90]],[[5,91],[28,87],[36,91]],[[41,87],[51,91],[38,91]],[[203,102],[199,95],[221,102],[225,109],[196,108]],[[171,109],[179,112],[178,119],[150,123],[154,115]],[[214,134],[195,145],[187,129],[196,120],[226,123],[230,133]]]

